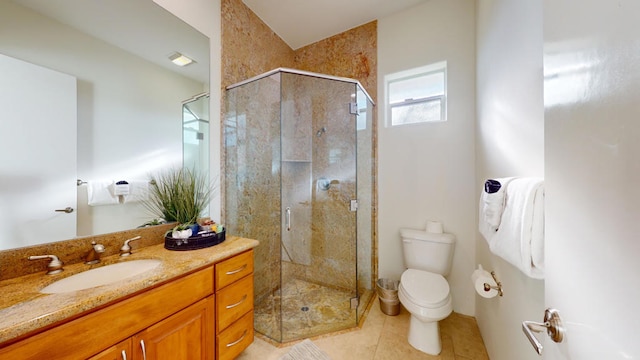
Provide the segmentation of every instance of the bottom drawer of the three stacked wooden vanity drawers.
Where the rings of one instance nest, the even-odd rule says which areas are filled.
[[[250,311],[217,336],[216,359],[235,359],[252,342],[253,311]]]

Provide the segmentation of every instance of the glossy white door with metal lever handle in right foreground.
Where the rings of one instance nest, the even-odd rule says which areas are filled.
[[[543,3],[544,359],[640,359],[640,2]]]

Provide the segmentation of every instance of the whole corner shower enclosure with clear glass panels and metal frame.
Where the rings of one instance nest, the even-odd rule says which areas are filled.
[[[351,79],[276,69],[229,86],[225,222],[255,249],[255,329],[288,342],[358,324],[373,295],[373,102]]]

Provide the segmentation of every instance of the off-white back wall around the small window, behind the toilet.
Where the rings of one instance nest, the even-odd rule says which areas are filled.
[[[469,276],[475,262],[475,1],[431,0],[378,20],[378,94],[384,76],[447,61],[448,121],[384,126],[379,133],[379,277],[404,271],[399,229],[440,220],[456,235],[448,276],[454,311],[474,314]],[[380,97],[382,99],[382,97]]]

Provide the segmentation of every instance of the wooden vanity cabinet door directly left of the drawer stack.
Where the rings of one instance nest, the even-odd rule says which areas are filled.
[[[134,359],[213,360],[213,296],[141,331],[133,337]]]

